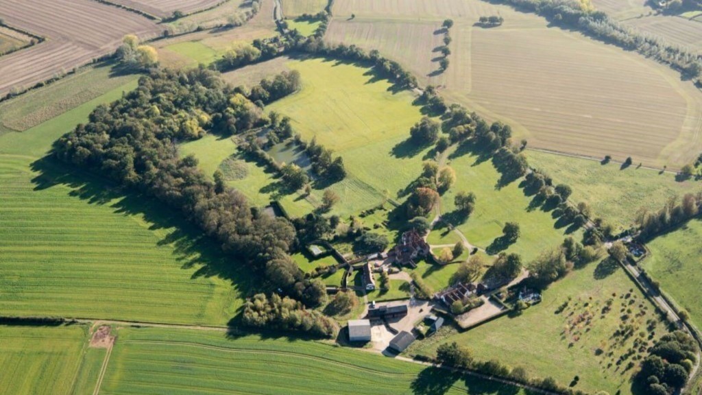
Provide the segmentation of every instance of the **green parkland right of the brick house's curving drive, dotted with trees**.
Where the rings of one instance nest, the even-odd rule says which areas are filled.
[[[459,150],[463,151],[461,148]],[[524,263],[527,263],[543,250],[559,245],[567,237],[568,228],[556,228],[551,212],[544,212],[541,208],[529,209],[531,198],[519,188],[519,180],[498,187],[501,174],[491,160],[481,160],[470,152],[461,153],[458,157],[455,157],[456,154],[451,155],[454,157],[449,165],[456,171],[458,179],[442,196],[442,212],[445,219],[455,214],[453,199],[456,193],[475,193],[475,211],[466,220],[454,221],[472,245],[489,247],[502,235],[505,223],[517,222],[521,235],[505,251],[522,255]],[[578,234],[579,231],[576,231],[576,238]]]

